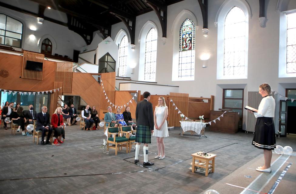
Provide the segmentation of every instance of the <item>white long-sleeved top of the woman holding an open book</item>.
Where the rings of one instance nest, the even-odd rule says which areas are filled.
[[[259,105],[258,112],[254,112],[256,118],[258,117],[274,117],[275,101],[272,96],[264,97]]]

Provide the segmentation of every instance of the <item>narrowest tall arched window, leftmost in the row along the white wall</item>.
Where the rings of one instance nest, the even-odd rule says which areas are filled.
[[[126,77],[127,46],[128,46],[128,40],[127,40],[127,37],[124,36],[121,39],[121,42],[119,44],[119,73],[118,73],[118,76],[120,76],[120,77]]]

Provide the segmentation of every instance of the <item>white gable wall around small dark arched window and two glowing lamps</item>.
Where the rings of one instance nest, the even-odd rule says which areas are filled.
[[[17,6],[22,9],[38,13],[38,4],[32,3],[31,1],[1,0],[1,2],[12,4],[13,6]],[[49,39],[53,38],[56,42],[56,48],[53,48],[54,53],[58,53],[59,55],[63,56],[67,55],[70,58],[73,57],[73,50],[80,50],[82,46],[86,45],[86,42],[83,40],[83,38],[79,34],[70,31],[68,27],[55,24],[46,20],[43,21],[43,24],[38,24],[36,17],[23,14],[4,7],[0,7],[0,13],[15,18],[23,23],[22,49],[24,50],[40,52],[41,43],[40,45],[38,45],[38,40],[42,37],[46,37],[46,35],[49,35]],[[65,22],[66,14],[63,14],[59,11],[53,9],[46,9],[45,15],[47,17]],[[29,28],[31,26],[35,26],[36,31],[30,30]],[[34,39],[29,38],[31,34],[35,35]]]

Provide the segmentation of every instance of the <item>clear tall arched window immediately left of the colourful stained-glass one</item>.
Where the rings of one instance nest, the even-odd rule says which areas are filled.
[[[155,80],[157,32],[154,28],[148,32],[145,43],[145,80]]]

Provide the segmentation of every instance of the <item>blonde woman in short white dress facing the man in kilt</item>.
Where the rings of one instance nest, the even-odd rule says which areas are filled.
[[[154,111],[154,131],[153,136],[157,139],[158,155],[155,159],[164,159],[164,137],[169,137],[169,131],[167,130],[167,106],[163,97],[159,97],[158,105]]]

